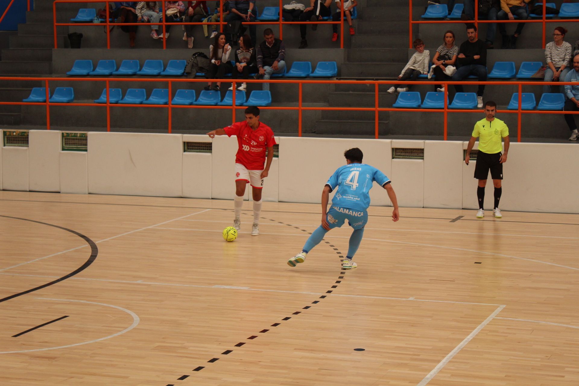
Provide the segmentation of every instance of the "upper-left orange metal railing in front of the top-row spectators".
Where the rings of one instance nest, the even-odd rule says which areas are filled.
[[[13,0],[14,1],[14,0]],[[200,1],[210,1],[210,0],[200,0]],[[163,49],[167,48],[167,38],[165,36],[165,28],[166,25],[207,25],[207,24],[219,24],[219,31],[223,32],[223,24],[227,24],[223,21],[223,2],[227,0],[219,0],[219,21],[203,21],[199,23],[186,23],[184,21],[179,21],[177,23],[167,23],[166,17],[163,17],[162,21],[159,23],[111,23],[111,15],[109,14],[109,3],[113,3],[114,0],[105,0],[107,3],[106,10],[107,10],[107,17],[105,18],[105,23],[57,23],[56,21],[56,5],[57,3],[102,3],[103,0],[55,0],[53,2],[53,24],[54,24],[54,48],[58,48],[58,41],[57,41],[57,32],[56,27],[58,25],[106,25],[107,26],[107,48],[111,48],[111,33],[109,31],[109,27],[115,25],[163,25]],[[340,24],[340,48],[344,47],[344,2],[340,2],[340,13],[341,18],[340,21],[283,21],[283,16],[281,15],[281,10],[283,10],[283,0],[280,0],[280,19],[278,21],[243,21],[243,25],[279,25],[279,38],[283,39],[283,25],[286,24]],[[162,12],[163,16],[165,14],[165,0],[161,0],[162,3]]]

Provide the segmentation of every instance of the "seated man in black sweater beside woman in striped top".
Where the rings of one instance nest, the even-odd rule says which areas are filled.
[[[467,24],[468,40],[460,45],[459,56],[457,62],[459,68],[456,70],[452,80],[463,80],[470,75],[477,76],[480,82],[486,81],[486,45],[481,40],[477,39],[477,26],[474,24]],[[457,93],[463,93],[464,87],[462,84],[455,84]],[[477,107],[482,108],[482,94],[485,93],[485,85],[479,84],[477,91]]]

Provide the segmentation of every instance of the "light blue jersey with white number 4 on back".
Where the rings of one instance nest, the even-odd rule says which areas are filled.
[[[369,192],[374,181],[384,186],[390,182],[390,178],[366,164],[352,163],[338,168],[326,183],[332,191],[338,188],[332,198],[332,205],[365,211],[370,206]]]

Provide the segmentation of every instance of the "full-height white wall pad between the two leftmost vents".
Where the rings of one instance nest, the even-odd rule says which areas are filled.
[[[28,133],[29,189],[60,192],[61,132],[30,130]]]

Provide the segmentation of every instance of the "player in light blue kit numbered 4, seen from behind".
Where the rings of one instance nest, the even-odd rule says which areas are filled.
[[[348,225],[353,227],[354,231],[352,236],[350,236],[348,254],[342,262],[342,269],[353,269],[358,266],[352,259],[356,251],[358,251],[358,247],[360,247],[360,242],[364,235],[364,227],[368,222],[369,191],[374,181],[386,189],[388,197],[392,201],[394,207],[392,220],[398,221],[398,218],[400,218],[398,201],[390,179],[375,167],[362,163],[362,157],[364,156],[362,150],[358,148],[349,149],[344,152],[344,156],[346,157],[346,165],[338,168],[332,174],[322,191],[322,224],[307,239],[302,252],[288,260],[288,266],[290,267],[303,263],[306,260],[307,253],[320,244],[325,234],[330,229],[342,227],[345,220],[348,220]],[[329,193],[336,188],[338,188],[338,192],[334,194],[332,205],[327,211]]]

